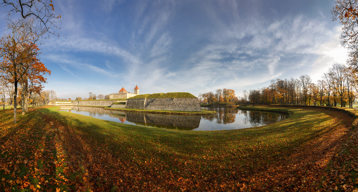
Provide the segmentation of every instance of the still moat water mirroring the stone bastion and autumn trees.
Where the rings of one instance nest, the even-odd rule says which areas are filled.
[[[193,131],[229,130],[276,123],[287,116],[279,113],[245,111],[237,108],[202,107],[217,111],[215,115],[164,115],[105,110],[98,107],[61,106],[59,111],[95,117],[118,123],[143,125],[166,129]]]

